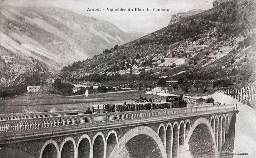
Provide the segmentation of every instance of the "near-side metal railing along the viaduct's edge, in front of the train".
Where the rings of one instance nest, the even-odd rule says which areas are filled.
[[[188,116],[193,114],[202,114],[208,112],[233,111],[234,105],[218,105],[205,107],[159,109],[159,110],[142,110],[129,112],[102,113],[92,115],[75,115],[75,116],[55,116],[41,118],[10,119],[0,121],[0,135],[10,132],[19,131],[41,131],[51,130],[54,128],[67,128],[83,124],[100,124],[114,121],[129,121],[134,119],[147,119],[156,117],[177,117]]]

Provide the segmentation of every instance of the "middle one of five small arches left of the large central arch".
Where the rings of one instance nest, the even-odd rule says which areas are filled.
[[[82,158],[82,157],[90,157],[91,153],[91,138],[89,135],[84,134],[82,135],[76,145],[77,148],[77,157]]]

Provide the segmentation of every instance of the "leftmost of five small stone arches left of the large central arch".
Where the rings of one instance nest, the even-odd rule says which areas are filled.
[[[50,146],[48,146],[48,145],[50,145]],[[50,149],[48,149],[48,147],[50,147]],[[51,149],[53,149],[53,147],[55,147],[55,149],[56,149],[56,156],[55,156],[55,154],[54,154],[54,150],[51,150]],[[48,150],[48,151],[49,151],[49,150],[53,151],[52,156],[49,156],[49,153],[45,153],[45,149]],[[50,152],[51,152],[51,151],[50,151]],[[44,143],[44,145],[42,146],[39,158],[46,158],[45,156],[47,156],[47,157],[49,157],[49,158],[57,158],[57,157],[59,157],[58,154],[59,154],[59,147],[58,147],[58,144],[56,143],[56,141],[50,139],[50,140],[47,140],[47,141]],[[45,155],[45,156],[44,156],[44,155]]]

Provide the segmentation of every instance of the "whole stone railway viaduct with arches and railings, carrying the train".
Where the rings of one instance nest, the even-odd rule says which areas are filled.
[[[35,158],[217,158],[234,105],[0,118],[0,152]],[[124,152],[125,151],[125,152]]]

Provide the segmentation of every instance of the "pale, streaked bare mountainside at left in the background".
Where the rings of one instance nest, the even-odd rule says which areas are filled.
[[[65,9],[0,6],[0,87],[18,84],[34,71],[56,72],[144,35]]]

